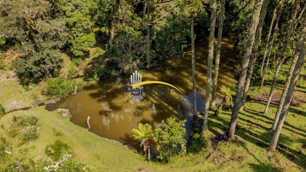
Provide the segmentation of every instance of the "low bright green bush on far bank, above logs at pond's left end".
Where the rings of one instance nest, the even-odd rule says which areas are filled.
[[[50,96],[66,96],[74,91],[74,86],[78,88],[81,87],[81,84],[70,80],[68,81],[65,77],[51,78],[47,81],[47,95]]]

